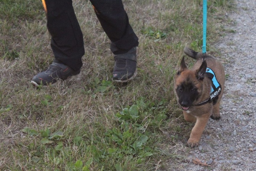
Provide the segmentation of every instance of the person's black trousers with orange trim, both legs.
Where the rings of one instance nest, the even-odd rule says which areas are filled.
[[[138,46],[138,37],[129,24],[122,0],[90,0],[102,28],[111,41],[115,54],[128,52]],[[42,0],[47,29],[52,36],[51,47],[55,61],[78,70],[83,65],[83,34],[73,9],[72,0]]]

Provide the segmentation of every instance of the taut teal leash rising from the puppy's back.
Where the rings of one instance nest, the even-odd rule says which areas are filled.
[[[206,54],[207,0],[203,0],[203,61]]]

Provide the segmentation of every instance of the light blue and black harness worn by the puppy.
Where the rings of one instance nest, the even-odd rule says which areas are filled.
[[[219,94],[221,92],[221,85],[217,81],[215,73],[212,71],[211,68],[206,68],[206,76],[212,81],[210,97],[207,100],[204,100],[203,102],[198,103],[195,106],[201,106],[211,102],[213,102],[213,105],[215,105],[219,98]]]

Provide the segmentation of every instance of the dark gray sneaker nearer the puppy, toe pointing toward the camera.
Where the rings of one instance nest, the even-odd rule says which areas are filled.
[[[113,81],[128,82],[137,75],[136,47],[124,54],[115,55]]]

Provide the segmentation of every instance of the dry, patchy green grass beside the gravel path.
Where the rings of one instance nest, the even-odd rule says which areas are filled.
[[[125,85],[111,81],[110,42],[91,3],[73,0],[86,51],[81,78],[39,89],[29,81],[53,60],[42,4],[0,3],[0,170],[182,170],[193,124],[172,81],[183,48],[201,50],[201,0],[123,1],[139,37],[138,76]],[[232,1],[208,9],[211,52]]]

